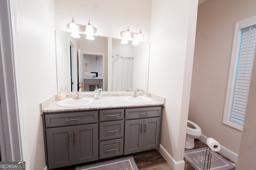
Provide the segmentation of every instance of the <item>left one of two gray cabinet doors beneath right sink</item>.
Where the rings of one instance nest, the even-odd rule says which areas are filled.
[[[125,121],[124,154],[142,151],[143,119]]]

